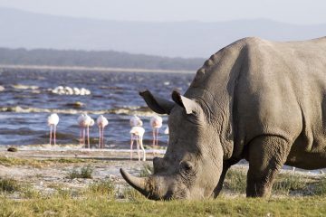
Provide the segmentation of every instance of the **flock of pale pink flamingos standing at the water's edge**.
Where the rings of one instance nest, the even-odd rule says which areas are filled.
[[[51,114],[47,119],[48,125],[50,126],[50,145],[56,145],[55,132],[56,127],[59,123],[59,116],[55,113]],[[143,126],[142,120],[134,115],[130,118],[130,160],[132,159],[132,148],[133,144],[136,142],[137,152],[140,161],[140,149],[143,152],[142,160],[146,161],[146,152],[143,146],[143,136],[145,134],[145,128]],[[163,119],[157,115],[150,118],[150,126],[153,129],[153,148],[158,146],[158,129],[162,127]],[[88,116],[86,113],[80,115],[77,118],[77,123],[80,129],[80,146],[84,146],[90,148],[90,127],[95,124],[94,119]],[[96,124],[99,127],[99,148],[104,148],[104,127],[109,125],[109,120],[104,116],[100,115],[99,118],[96,119]],[[165,134],[168,134],[168,127],[164,131]],[[87,137],[87,146],[85,143],[85,138]]]

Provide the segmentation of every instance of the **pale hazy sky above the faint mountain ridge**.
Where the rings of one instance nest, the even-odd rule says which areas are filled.
[[[326,23],[325,0],[0,0],[0,6],[43,14],[129,21],[267,18],[291,24]]]

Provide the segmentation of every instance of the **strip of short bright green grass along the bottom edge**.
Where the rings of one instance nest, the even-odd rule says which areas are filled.
[[[325,197],[117,202],[100,197],[0,199],[1,216],[324,216]]]

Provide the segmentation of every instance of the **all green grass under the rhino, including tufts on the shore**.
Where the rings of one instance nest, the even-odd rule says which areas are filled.
[[[21,160],[21,161],[20,161]],[[77,159],[78,160],[78,159]],[[8,164],[25,164],[24,159],[10,159]],[[31,160],[28,163],[44,162]],[[75,163],[74,159],[55,159],[55,164]],[[78,162],[79,163],[79,162]],[[83,162],[84,163],[84,162]],[[36,165],[37,165],[36,164]],[[53,164],[47,161],[46,164]],[[139,176],[152,173],[145,164]],[[91,165],[74,167],[69,178],[90,178]],[[273,185],[269,199],[245,198],[246,170],[230,169],[224,192],[216,200],[153,202],[131,187],[116,185],[109,178],[89,180],[86,187],[47,184],[51,193],[14,179],[0,179],[0,216],[325,216],[326,175],[282,173]],[[13,196],[14,195],[14,196]],[[16,195],[20,195],[16,200]],[[281,196],[280,196],[281,195]],[[292,196],[295,195],[295,196]],[[14,199],[13,199],[14,198]]]

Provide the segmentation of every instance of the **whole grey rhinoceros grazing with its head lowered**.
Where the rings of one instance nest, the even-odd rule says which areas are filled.
[[[149,199],[216,197],[227,170],[244,158],[248,197],[270,195],[283,165],[326,167],[326,37],[245,38],[205,61],[184,96],[140,95],[150,109],[168,114],[170,131],[153,175],[120,169]]]

